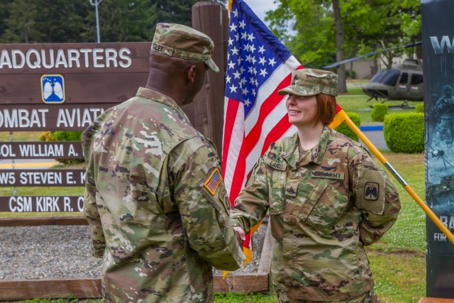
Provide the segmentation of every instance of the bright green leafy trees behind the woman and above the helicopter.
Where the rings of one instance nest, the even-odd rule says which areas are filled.
[[[305,66],[323,67],[343,60],[345,54],[355,57],[381,48],[404,45],[414,42],[415,36],[421,34],[419,0],[278,2],[278,9],[267,12],[266,20],[270,21],[270,28],[277,37],[284,40]],[[402,53],[402,50],[387,53],[389,60],[399,55],[399,51]],[[387,64],[391,62],[389,60]],[[340,92],[345,91],[343,68],[337,70]]]

